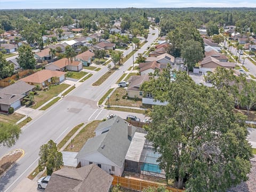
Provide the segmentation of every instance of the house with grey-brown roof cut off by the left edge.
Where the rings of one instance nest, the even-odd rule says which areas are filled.
[[[10,107],[17,109],[21,106],[21,101],[30,91],[33,91],[34,85],[29,85],[23,81],[11,84],[0,90],[0,111],[8,111]]]

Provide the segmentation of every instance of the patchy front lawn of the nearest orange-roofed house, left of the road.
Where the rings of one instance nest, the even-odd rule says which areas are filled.
[[[45,102],[49,101],[53,97],[56,97],[63,90],[67,89],[70,85],[62,83],[59,85],[52,85],[50,90],[47,91],[38,91],[38,94],[35,95],[35,105],[31,106],[33,109],[37,109],[42,106]]]

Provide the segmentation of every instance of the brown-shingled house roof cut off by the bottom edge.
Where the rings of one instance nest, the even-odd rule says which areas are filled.
[[[63,167],[52,173],[45,192],[109,192],[113,179],[95,164],[78,169]]]

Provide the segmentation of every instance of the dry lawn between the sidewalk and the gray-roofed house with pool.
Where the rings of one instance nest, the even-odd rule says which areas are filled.
[[[72,140],[73,148],[70,147],[71,143],[69,143],[65,151],[79,152],[79,150],[81,150],[84,146],[85,142],[95,136],[94,130],[100,122],[101,121],[93,121],[87,124]]]

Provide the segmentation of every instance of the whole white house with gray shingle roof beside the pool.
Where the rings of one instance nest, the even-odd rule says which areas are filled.
[[[87,140],[77,154],[81,166],[96,164],[109,174],[121,176],[127,150],[136,128],[121,117],[101,122],[94,130],[95,137]]]

